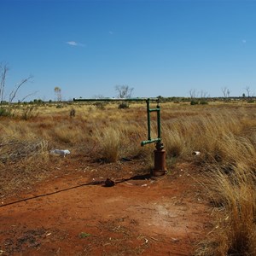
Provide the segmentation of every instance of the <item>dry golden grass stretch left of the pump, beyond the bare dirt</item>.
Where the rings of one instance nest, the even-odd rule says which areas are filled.
[[[76,110],[74,118],[70,118],[71,108]],[[49,157],[49,150],[54,148],[69,149],[73,157],[80,155],[92,161],[150,158],[148,147],[140,147],[147,134],[146,114],[140,108],[134,114],[133,106],[119,110],[113,104],[103,110],[90,105],[40,107],[32,119],[24,119],[22,108],[17,108],[15,118],[2,117],[0,196],[49,177],[55,169],[51,166],[56,165],[55,158]],[[142,120],[134,120],[134,116]]]

